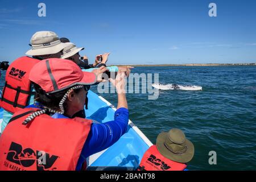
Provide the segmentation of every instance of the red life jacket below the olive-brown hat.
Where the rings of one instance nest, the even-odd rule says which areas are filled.
[[[138,171],[183,171],[186,167],[186,164],[165,158],[154,145],[143,155]]]

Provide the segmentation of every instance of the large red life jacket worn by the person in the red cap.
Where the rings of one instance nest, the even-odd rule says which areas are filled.
[[[0,137],[0,171],[73,171],[90,131],[91,120],[53,119],[47,114],[27,125],[37,109],[17,111]]]

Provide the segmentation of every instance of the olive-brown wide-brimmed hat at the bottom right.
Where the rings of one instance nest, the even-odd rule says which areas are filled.
[[[186,139],[180,129],[160,133],[156,139],[156,147],[164,157],[179,163],[188,163],[195,153],[193,143]]]

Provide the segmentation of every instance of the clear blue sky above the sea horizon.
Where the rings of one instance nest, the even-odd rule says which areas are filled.
[[[91,62],[111,52],[109,64],[256,63],[254,0],[0,0],[0,60],[23,56],[42,30],[85,47]]]

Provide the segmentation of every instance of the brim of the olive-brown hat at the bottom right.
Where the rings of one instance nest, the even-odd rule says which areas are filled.
[[[160,154],[168,159],[179,163],[188,163],[189,161],[191,161],[195,154],[195,147],[193,146],[193,143],[186,139],[184,144],[187,146],[187,151],[185,151],[183,154],[174,154],[169,151],[166,146],[164,146],[164,140],[167,135],[168,133],[162,132],[158,135],[158,138],[156,139],[156,147],[158,148]]]

